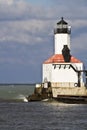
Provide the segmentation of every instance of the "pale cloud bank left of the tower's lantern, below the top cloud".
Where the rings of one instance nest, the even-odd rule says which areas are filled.
[[[48,22],[39,20],[12,21],[0,22],[0,26],[0,42],[18,42],[32,45],[48,41]]]

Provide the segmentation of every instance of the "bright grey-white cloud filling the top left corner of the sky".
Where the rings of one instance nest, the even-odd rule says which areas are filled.
[[[51,8],[32,5],[27,0],[14,0],[12,4],[3,1],[0,4],[0,20],[48,19],[52,16]]]

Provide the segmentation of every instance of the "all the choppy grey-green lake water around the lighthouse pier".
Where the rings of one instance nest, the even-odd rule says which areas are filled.
[[[33,87],[0,87],[0,94],[3,93],[0,98],[19,99],[31,93]],[[87,105],[3,101],[0,102],[0,130],[87,130]]]

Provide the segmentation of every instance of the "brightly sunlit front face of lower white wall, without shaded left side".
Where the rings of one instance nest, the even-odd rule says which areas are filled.
[[[75,69],[82,70],[82,63],[73,63]],[[78,82],[78,74],[70,67],[64,68],[64,66],[52,67],[52,82]],[[81,82],[83,82],[83,75],[81,74]]]

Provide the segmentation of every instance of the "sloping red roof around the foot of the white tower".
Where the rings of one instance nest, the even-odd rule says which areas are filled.
[[[71,63],[81,63],[80,60],[76,59],[75,57],[71,56]],[[62,54],[55,54],[48,58],[46,61],[44,61],[44,64],[49,63],[65,63],[63,55]]]

